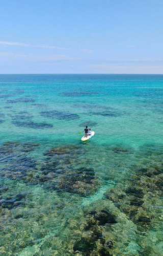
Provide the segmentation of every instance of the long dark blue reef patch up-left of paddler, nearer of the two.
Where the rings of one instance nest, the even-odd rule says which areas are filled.
[[[56,111],[56,110],[42,111],[42,112],[40,112],[40,115],[43,117],[58,118],[58,119],[64,119],[64,120],[73,120],[73,119],[79,118],[79,116],[77,114],[61,112],[61,111]]]

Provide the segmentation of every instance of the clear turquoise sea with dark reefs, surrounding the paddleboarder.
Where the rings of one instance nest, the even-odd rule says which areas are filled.
[[[162,255],[163,75],[0,75],[0,99],[1,255]]]

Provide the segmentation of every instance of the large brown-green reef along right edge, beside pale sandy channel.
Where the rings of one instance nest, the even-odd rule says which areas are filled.
[[[149,210],[149,205],[156,205],[157,198],[162,197],[163,161],[161,144],[145,144],[134,157],[140,158],[136,165],[131,166],[128,182],[117,185],[105,193],[133,223],[139,231],[155,228],[160,211],[157,207]]]

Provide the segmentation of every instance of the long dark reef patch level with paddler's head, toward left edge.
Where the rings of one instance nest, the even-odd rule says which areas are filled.
[[[48,129],[53,127],[53,125],[49,123],[35,123],[33,121],[13,121],[12,123],[18,127],[33,129]]]

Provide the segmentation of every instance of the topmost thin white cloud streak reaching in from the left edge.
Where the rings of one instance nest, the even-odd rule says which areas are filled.
[[[2,45],[2,46],[36,47],[36,48],[44,48],[44,49],[70,50],[68,48],[57,47],[57,46],[30,45],[30,44],[24,44],[23,42],[9,42],[9,41],[2,41],[2,40],[0,40],[0,45]]]

